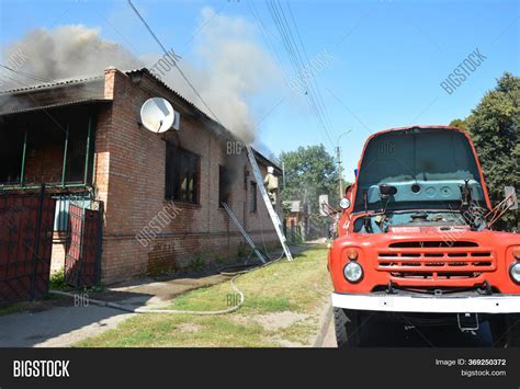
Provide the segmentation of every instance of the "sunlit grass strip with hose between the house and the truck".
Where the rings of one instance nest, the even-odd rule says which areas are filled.
[[[246,302],[225,316],[145,313],[122,322],[116,329],[87,339],[76,346],[221,346],[264,347],[306,345],[317,332],[317,313],[330,293],[326,249],[303,252],[294,262],[286,260],[247,273],[236,281]],[[229,283],[193,290],[170,301],[169,308],[221,310],[229,308]],[[231,299],[233,301],[233,299]],[[303,313],[306,319],[267,329],[265,316]]]

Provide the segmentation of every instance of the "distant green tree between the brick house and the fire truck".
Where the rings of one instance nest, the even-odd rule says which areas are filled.
[[[329,195],[329,203],[338,203],[338,169],[332,156],[323,145],[299,147],[282,152],[280,163],[285,165],[286,187],[281,191],[283,201],[299,199],[319,213],[318,196]]]

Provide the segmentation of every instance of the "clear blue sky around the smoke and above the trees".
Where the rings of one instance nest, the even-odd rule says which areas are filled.
[[[182,57],[180,64],[201,61],[197,39],[212,23],[229,18],[248,25],[247,38],[278,72],[258,72],[251,93],[240,89],[257,126],[257,145],[274,155],[319,144],[335,153],[339,145],[348,181],[371,133],[410,124],[448,125],[467,116],[505,71],[520,73],[520,1],[282,0],[278,4],[303,64],[312,69],[312,89],[287,85],[302,72],[292,66],[269,2],[134,4],[163,45]],[[0,0],[1,47],[37,27],[74,24],[99,28],[103,38],[139,58],[160,53],[126,1]],[[475,50],[481,54],[478,67],[448,93],[441,82]],[[316,59],[321,66],[312,66]]]

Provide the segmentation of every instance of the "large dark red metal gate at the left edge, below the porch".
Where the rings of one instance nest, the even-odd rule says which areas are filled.
[[[0,305],[48,291],[56,203],[39,195],[0,195]]]

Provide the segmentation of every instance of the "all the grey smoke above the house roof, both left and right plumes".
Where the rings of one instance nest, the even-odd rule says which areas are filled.
[[[151,41],[150,45],[155,43]],[[184,50],[176,49],[182,56],[178,64],[217,119],[244,140],[252,141],[255,119],[248,100],[271,88],[278,79],[272,59],[256,41],[253,27],[242,18],[215,14],[214,10],[204,8],[199,28]],[[26,60],[12,64],[11,68],[45,80],[102,75],[109,66],[121,70],[152,67],[161,58],[161,54],[137,58],[125,47],[103,39],[99,28],[82,25],[32,31],[4,48],[3,62],[8,65],[15,53],[22,53]],[[2,78],[1,90],[20,88],[20,82],[38,83],[16,73],[9,76],[19,82]],[[161,78],[213,116],[177,69]]]

